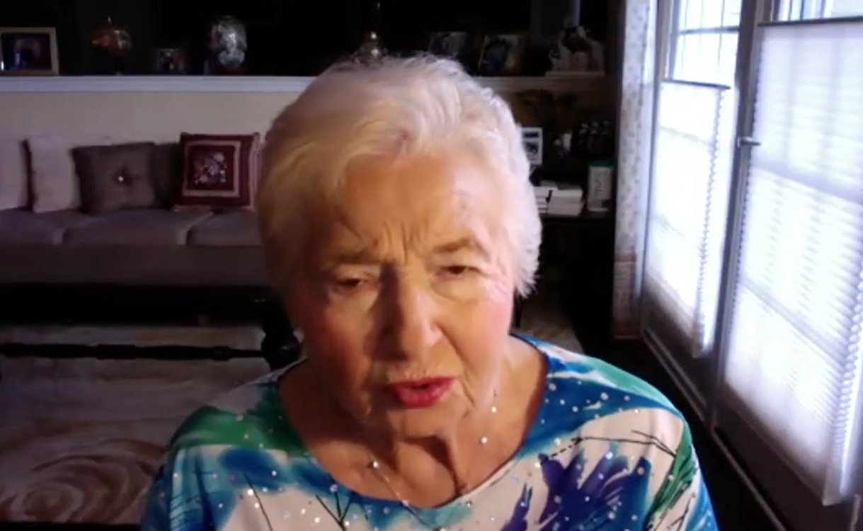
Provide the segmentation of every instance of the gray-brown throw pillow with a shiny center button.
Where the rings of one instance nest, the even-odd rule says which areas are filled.
[[[158,205],[153,142],[72,149],[80,180],[81,210],[100,214]]]

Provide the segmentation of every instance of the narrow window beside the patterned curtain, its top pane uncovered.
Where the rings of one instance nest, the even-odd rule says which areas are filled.
[[[696,410],[713,354],[734,155],[740,0],[672,3],[658,83],[642,279],[642,323],[679,365]]]

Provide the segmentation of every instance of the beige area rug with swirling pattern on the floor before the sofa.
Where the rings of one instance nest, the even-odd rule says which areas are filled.
[[[224,331],[212,336],[128,327],[101,333],[98,327],[4,332],[0,345],[10,337],[19,344],[22,338],[39,338],[33,343],[78,339],[79,345],[213,346],[256,340],[249,331],[232,338]],[[565,319],[535,307],[526,309],[520,332],[580,350]],[[180,422],[267,371],[259,358],[0,356],[0,522],[136,523],[162,448]]]

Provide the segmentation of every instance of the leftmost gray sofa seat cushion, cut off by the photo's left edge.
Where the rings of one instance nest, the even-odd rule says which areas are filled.
[[[0,244],[62,243],[70,227],[84,224],[90,216],[77,210],[0,212]]]

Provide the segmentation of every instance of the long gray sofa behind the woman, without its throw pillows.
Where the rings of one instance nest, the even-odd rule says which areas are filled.
[[[0,211],[0,285],[266,288],[255,212],[173,209],[178,149],[159,153],[158,205]]]

